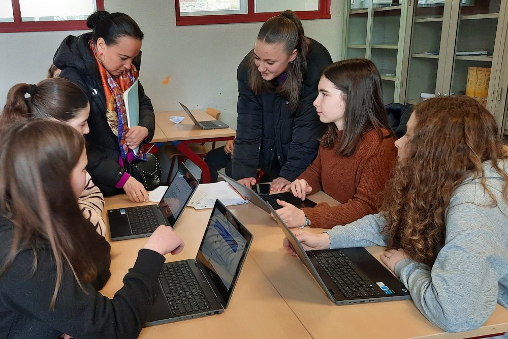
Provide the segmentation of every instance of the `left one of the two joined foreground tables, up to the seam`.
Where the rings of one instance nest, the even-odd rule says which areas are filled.
[[[106,208],[134,206],[126,195],[106,198]],[[185,248],[176,256],[167,255],[167,262],[195,258],[198,252],[211,209],[195,211],[187,208],[175,230],[185,241]],[[107,210],[103,217],[107,220]],[[112,298],[122,286],[122,279],[134,265],[138,251],[147,238],[111,241],[109,229],[105,234],[111,243],[111,278],[101,291]],[[140,338],[232,338],[281,337],[310,338],[300,320],[278,294],[265,274],[247,256],[228,309],[220,315],[190,319],[171,324],[145,327]]]

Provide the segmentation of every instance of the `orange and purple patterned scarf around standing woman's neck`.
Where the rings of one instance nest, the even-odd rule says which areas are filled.
[[[143,147],[139,147],[138,153],[130,149],[125,143],[125,134],[129,131],[127,123],[127,112],[125,103],[123,102],[123,92],[133,85],[139,76],[138,70],[132,65],[129,72],[121,73],[119,76],[113,77],[102,65],[97,57],[97,50],[90,40],[90,49],[96,58],[99,74],[101,76],[102,87],[106,97],[106,119],[109,128],[118,137],[118,145],[120,146],[120,156],[122,159],[130,159],[128,154],[131,152],[135,158],[146,160],[146,154]]]

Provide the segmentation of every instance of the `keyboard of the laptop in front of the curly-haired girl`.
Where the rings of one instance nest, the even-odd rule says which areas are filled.
[[[339,250],[307,252],[321,265],[346,298],[384,295],[376,284],[363,280],[355,271],[353,262]]]

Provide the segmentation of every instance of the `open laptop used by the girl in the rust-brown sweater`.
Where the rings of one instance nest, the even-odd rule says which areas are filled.
[[[236,181],[235,179],[230,178],[223,172],[218,172],[221,177],[223,177],[235,190],[238,191],[241,195],[243,195],[247,200],[252,201],[252,199],[261,200],[266,203],[268,203],[273,209],[279,209],[282,206],[277,204],[277,199],[283,200],[285,202],[289,202],[290,204],[302,208],[302,207],[314,207],[316,205],[315,202],[312,200],[309,200],[305,198],[305,200],[302,200],[298,197],[295,197],[293,193],[291,192],[282,192],[282,193],[275,193],[275,194],[269,194],[260,196],[256,192],[252,191],[251,189],[243,186],[241,183]],[[261,204],[260,204],[261,205]],[[258,207],[261,207],[258,205]],[[269,212],[268,209],[261,207],[266,212]]]

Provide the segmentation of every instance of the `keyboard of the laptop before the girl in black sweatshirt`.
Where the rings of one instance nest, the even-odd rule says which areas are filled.
[[[210,309],[187,262],[165,264],[159,278],[174,316]]]

